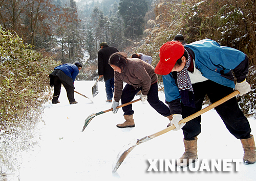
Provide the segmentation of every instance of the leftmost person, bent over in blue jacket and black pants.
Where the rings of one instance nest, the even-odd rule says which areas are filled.
[[[69,103],[71,105],[78,103],[74,98],[74,82],[81,68],[82,65],[79,62],[76,62],[74,64],[67,63],[54,68],[53,72],[49,75],[50,86],[54,86],[52,104],[59,103],[58,98],[60,94],[61,84],[65,87],[67,91]]]

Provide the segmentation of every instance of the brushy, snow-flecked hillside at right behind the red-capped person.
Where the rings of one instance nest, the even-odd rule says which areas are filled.
[[[154,7],[155,18],[147,21],[151,27],[144,31],[145,38],[137,51],[152,56],[152,65],[156,66],[159,48],[166,41],[172,41],[176,34],[183,34],[187,43],[209,38],[222,46],[243,51],[249,57],[247,81],[251,91],[238,99],[244,114],[255,117],[255,1],[161,0]]]

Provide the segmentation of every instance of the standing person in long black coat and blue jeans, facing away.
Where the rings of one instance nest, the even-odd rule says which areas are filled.
[[[104,76],[106,88],[106,102],[112,102],[114,92],[114,70],[109,65],[109,58],[116,53],[116,47],[109,46],[106,42],[100,43],[100,50],[98,51],[98,74],[100,77]]]

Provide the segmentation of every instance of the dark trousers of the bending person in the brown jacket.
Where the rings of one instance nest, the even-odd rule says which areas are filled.
[[[139,92],[142,88],[134,89],[133,86],[126,84],[126,86],[123,88],[121,102],[122,105],[131,102],[134,98],[134,96]],[[150,91],[148,91],[147,94],[147,101],[159,114],[163,116],[169,116],[170,110],[169,108],[158,98],[158,89],[157,89],[157,83],[152,84]],[[133,115],[134,111],[132,110],[132,104],[127,105],[125,107],[122,107],[124,115]]]

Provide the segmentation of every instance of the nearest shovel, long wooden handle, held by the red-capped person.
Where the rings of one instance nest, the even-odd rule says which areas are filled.
[[[207,106],[206,108],[204,108],[204,109],[202,109],[202,110],[196,112],[195,114],[192,114],[192,115],[190,115],[190,116],[188,116],[188,117],[186,117],[186,118],[180,120],[179,124],[188,122],[188,121],[190,121],[191,119],[194,119],[194,118],[200,116],[201,114],[203,114],[203,113],[205,113],[205,112],[211,110],[212,108],[215,108],[215,107],[221,105],[223,102],[225,102],[225,101],[231,99],[232,97],[234,97],[234,96],[236,96],[236,95],[238,95],[238,94],[239,94],[239,91],[238,91],[238,90],[232,92],[231,94],[229,94],[229,95],[227,95],[226,97],[224,97],[224,98],[218,100],[217,102],[214,102],[214,103],[211,104],[210,106]],[[156,137],[158,137],[158,136],[160,136],[160,135],[162,135],[162,134],[164,134],[164,133],[167,133],[167,132],[169,132],[169,131],[171,131],[171,130],[174,130],[174,128],[175,128],[175,125],[169,126],[169,127],[165,128],[165,129],[162,130],[162,131],[159,131],[159,132],[157,132],[157,133],[155,133],[155,134],[153,134],[153,135],[150,135],[150,136],[145,136],[145,137],[143,137],[143,138],[141,138],[141,139],[138,139],[135,143],[130,143],[130,144],[124,146],[123,149],[122,149],[122,150],[119,152],[119,154],[117,155],[116,161],[113,163],[113,166],[112,166],[112,173],[115,173],[115,172],[116,172],[116,170],[117,170],[117,169],[119,168],[119,166],[122,164],[123,160],[124,160],[124,159],[127,157],[127,155],[135,148],[135,146],[137,146],[137,145],[139,145],[139,144],[141,144],[141,143],[144,143],[144,142],[146,142],[146,141],[148,141],[148,140],[152,140],[153,138],[156,138]]]

